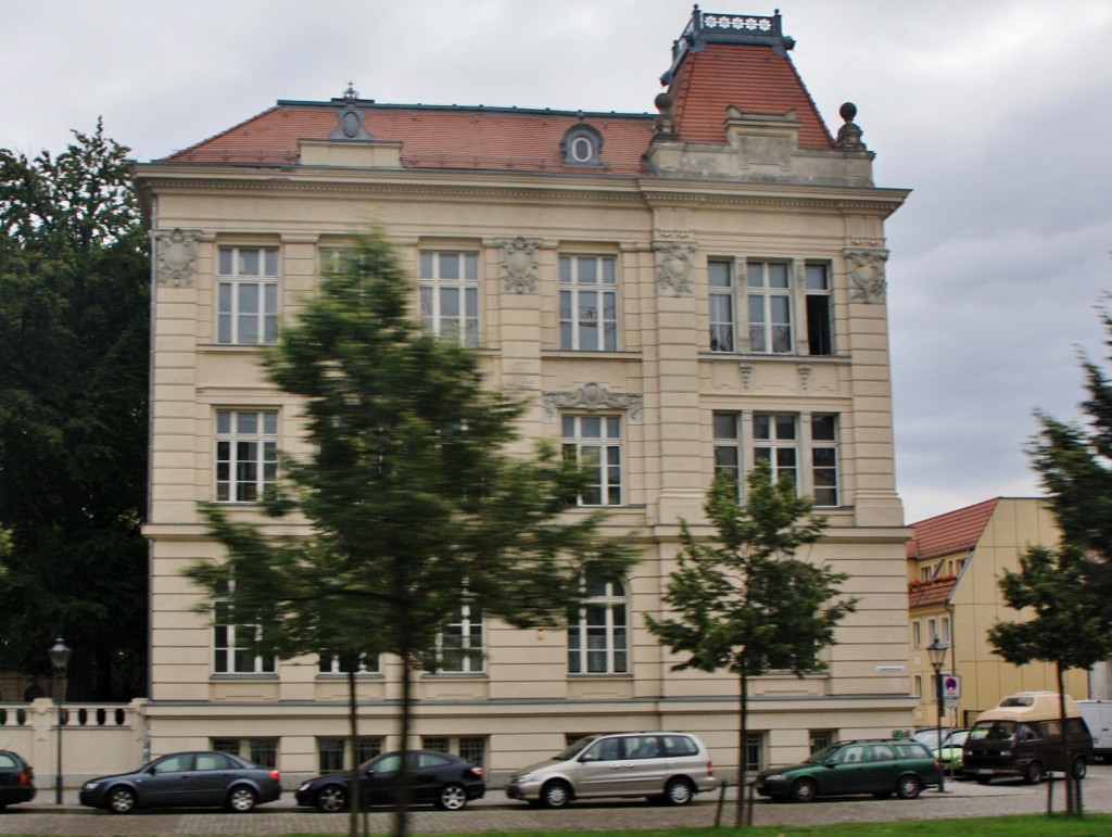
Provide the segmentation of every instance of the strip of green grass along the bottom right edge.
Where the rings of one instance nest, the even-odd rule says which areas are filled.
[[[897,823],[843,823],[817,826],[752,826],[735,828],[647,828],[605,831],[606,837],[1106,837],[1112,835],[1112,814],[1086,814],[1081,819],[1064,815],[1025,814],[1013,817],[962,817],[960,819],[900,820]],[[458,831],[446,837],[598,837],[599,831]],[[285,835],[284,837],[320,837]]]

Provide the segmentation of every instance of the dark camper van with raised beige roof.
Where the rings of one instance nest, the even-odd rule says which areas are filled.
[[[1093,737],[1073,698],[1065,698],[1070,766],[1083,779]],[[962,748],[962,773],[987,785],[995,776],[1021,776],[1030,785],[1066,768],[1058,692],[1021,691],[982,713]]]

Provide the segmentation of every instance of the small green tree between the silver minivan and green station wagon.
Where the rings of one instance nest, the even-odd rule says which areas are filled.
[[[681,521],[683,549],[664,595],[677,618],[646,617],[649,630],[674,654],[689,655],[674,669],[725,669],[739,685],[737,808],[747,824],[745,737],[748,682],[772,669],[797,676],[825,668],[817,652],[834,642],[834,629],[856,607],[841,599],[847,577],[794,557],[822,536],[826,521],[791,479],[773,482],[767,462],[749,471],[745,500],[737,485],[719,478],[707,496],[707,519],[717,537],[701,540]]]

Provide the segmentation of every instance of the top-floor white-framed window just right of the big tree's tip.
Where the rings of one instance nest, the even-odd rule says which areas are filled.
[[[421,250],[420,317],[429,333],[461,346],[479,345],[479,256]]]

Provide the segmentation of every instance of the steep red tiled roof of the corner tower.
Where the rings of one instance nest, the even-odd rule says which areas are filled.
[[[687,53],[668,93],[679,137],[687,142],[724,143],[726,111],[735,106],[763,113],[794,109],[800,148],[835,148],[795,64],[771,47],[707,43]]]

